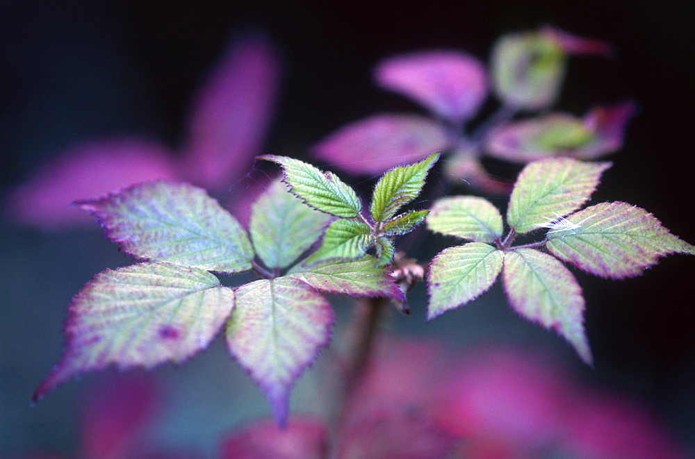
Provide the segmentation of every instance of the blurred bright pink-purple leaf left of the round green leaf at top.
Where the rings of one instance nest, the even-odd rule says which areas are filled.
[[[488,92],[482,62],[459,51],[387,58],[377,65],[374,77],[379,86],[400,92],[455,123],[475,115]]]

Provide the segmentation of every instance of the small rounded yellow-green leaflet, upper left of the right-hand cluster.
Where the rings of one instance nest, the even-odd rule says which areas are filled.
[[[427,228],[443,235],[493,243],[502,237],[502,215],[486,199],[445,197],[434,203],[427,217]]]

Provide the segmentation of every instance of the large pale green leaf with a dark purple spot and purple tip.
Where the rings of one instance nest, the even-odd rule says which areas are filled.
[[[233,307],[234,291],[202,269],[142,263],[97,274],[72,300],[67,349],[34,399],[111,363],[182,362],[208,346]]]

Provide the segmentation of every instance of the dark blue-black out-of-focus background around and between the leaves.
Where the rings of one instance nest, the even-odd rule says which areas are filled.
[[[191,94],[234,33],[263,31],[281,50],[284,78],[263,152],[302,156],[347,122],[379,111],[418,110],[373,85],[370,70],[380,58],[445,47],[486,60],[500,34],[553,24],[618,50],[612,60],[572,58],[557,108],[581,115],[596,103],[628,98],[640,107],[595,199],[646,208],[695,242],[694,12],[694,3],[680,0],[4,0],[0,192],[4,196],[75,142],[136,134],[175,147]],[[506,173],[513,178],[516,170]],[[29,400],[60,356],[72,295],[96,272],[130,261],[96,227],[49,233],[4,219],[0,253],[0,457],[75,455],[81,406],[117,372],[66,383],[35,407]],[[552,333],[518,319],[499,286],[427,325],[423,293],[416,291],[414,316],[394,314],[388,328],[435,337],[462,353],[502,343],[559,356],[587,384],[653,410],[692,452],[694,266],[692,259],[673,256],[627,281],[577,273],[587,298],[594,369],[582,367]],[[300,382],[293,409],[320,412],[320,367]],[[212,455],[225,432],[268,413],[260,391],[219,340],[183,367],[165,365],[143,377],[154,378],[167,399],[151,437],[171,450]]]

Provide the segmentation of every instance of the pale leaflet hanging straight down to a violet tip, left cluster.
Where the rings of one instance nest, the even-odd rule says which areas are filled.
[[[279,277],[236,290],[227,345],[261,385],[275,421],[287,422],[290,390],[330,339],[333,310],[308,284]]]

